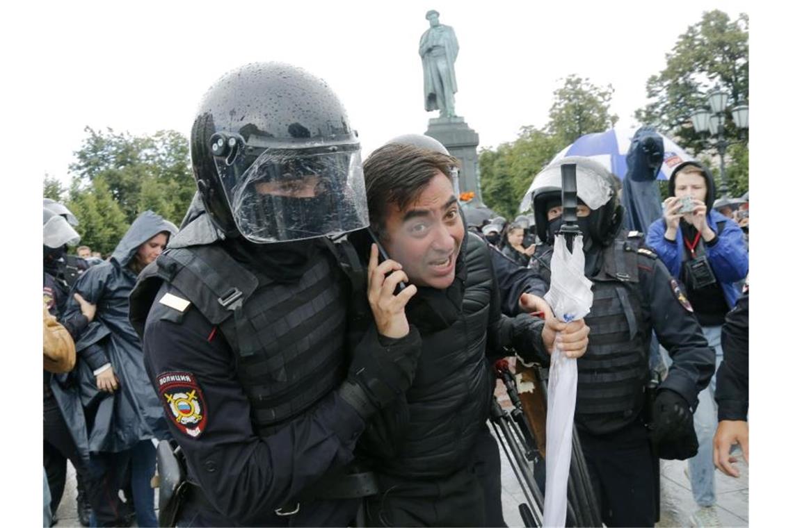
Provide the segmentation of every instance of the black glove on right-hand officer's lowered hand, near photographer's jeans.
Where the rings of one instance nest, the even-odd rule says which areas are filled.
[[[661,389],[653,404],[653,448],[660,458],[686,460],[697,452],[694,415],[688,401],[671,389]]]

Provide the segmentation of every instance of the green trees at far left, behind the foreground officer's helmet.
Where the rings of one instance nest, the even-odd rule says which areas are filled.
[[[195,183],[187,139],[176,131],[133,136],[112,128],[88,136],[70,165],[79,188],[102,179],[128,223],[146,209],[178,222],[190,205]]]

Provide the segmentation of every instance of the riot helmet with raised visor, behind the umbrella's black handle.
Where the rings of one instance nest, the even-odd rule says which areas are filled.
[[[611,244],[623,222],[624,210],[618,196],[619,181],[591,158],[561,158],[542,169],[523,196],[521,209],[534,209],[537,236],[546,244],[553,244],[553,234],[548,233],[548,211],[561,205],[561,165],[566,163],[576,164],[578,199],[592,211],[587,220],[592,241],[601,246]]]

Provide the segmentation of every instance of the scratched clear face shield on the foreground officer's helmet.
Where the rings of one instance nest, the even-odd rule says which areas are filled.
[[[259,244],[335,236],[369,225],[358,144],[240,154],[216,168],[239,233]]]

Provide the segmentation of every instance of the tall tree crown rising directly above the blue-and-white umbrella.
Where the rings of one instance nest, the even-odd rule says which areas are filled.
[[[554,91],[546,131],[568,145],[584,134],[614,127],[619,117],[608,113],[613,93],[611,85],[601,88],[588,78],[569,75],[564,85]]]

